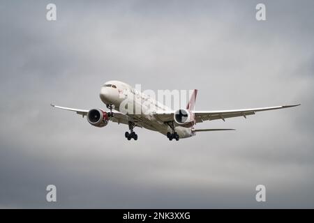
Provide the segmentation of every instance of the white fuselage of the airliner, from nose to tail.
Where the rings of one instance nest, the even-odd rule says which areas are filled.
[[[172,129],[167,123],[157,120],[154,116],[154,112],[156,112],[157,109],[166,111],[169,110],[169,108],[154,100],[154,98],[149,98],[149,96],[144,93],[136,91],[124,82],[105,82],[100,89],[100,99],[106,105],[114,105],[115,110],[126,114],[130,117],[130,121],[135,122],[135,124],[138,121],[144,128],[162,134],[172,132]],[[125,105],[126,102],[133,105],[134,112],[128,113],[124,109],[121,109],[121,103],[124,103],[123,105]],[[180,138],[192,137],[195,135],[193,128],[185,128],[183,126],[175,126],[174,128]]]

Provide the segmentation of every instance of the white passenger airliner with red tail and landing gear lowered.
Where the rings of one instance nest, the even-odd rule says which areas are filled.
[[[126,139],[137,140],[137,134],[133,128],[146,128],[147,130],[153,130],[164,134],[170,141],[175,139],[184,139],[195,136],[196,132],[209,132],[209,131],[224,131],[234,130],[232,128],[221,129],[195,129],[196,123],[202,123],[203,121],[212,121],[216,119],[233,118],[243,116],[246,118],[248,115],[253,115],[255,112],[263,112],[274,109],[285,109],[288,107],[296,107],[298,105],[284,105],[276,107],[261,107],[255,109],[234,109],[234,110],[221,110],[221,111],[195,111],[195,100],[197,96],[197,90],[195,89],[190,96],[190,100],[186,108],[177,109],[176,111],[169,109],[160,102],[149,98],[145,95],[133,89],[132,86],[119,81],[105,82],[100,89],[100,99],[105,103],[109,111],[103,109],[73,109],[70,107],[61,107],[52,105],[52,107],[58,109],[65,109],[68,111],[76,112],[83,116],[87,116],[87,121],[96,127],[105,127],[109,121],[114,123],[123,123],[128,125],[130,132],[125,132]],[[140,114],[136,112],[125,112],[121,109],[122,103],[126,100],[134,102],[134,98],[140,98],[135,104],[135,109],[140,107],[142,109]],[[145,104],[146,103],[146,104]],[[145,105],[144,105],[145,104]],[[153,105],[150,110],[147,110],[147,104]],[[146,110],[145,110],[146,109]],[[114,111],[113,111],[114,110]],[[123,111],[122,111],[123,110]]]

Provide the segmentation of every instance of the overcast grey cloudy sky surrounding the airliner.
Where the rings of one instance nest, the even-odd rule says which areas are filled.
[[[48,22],[50,2],[0,1],[0,208],[314,208],[314,1],[263,1],[264,22],[260,1],[53,1]],[[197,109],[302,105],[180,141],[50,107],[104,107],[110,79],[199,89]]]

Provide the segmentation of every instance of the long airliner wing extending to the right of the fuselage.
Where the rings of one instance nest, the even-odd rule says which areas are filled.
[[[300,105],[300,104],[299,104]],[[234,109],[234,110],[221,110],[221,111],[191,111],[195,115],[196,123],[202,123],[203,121],[211,121],[215,119],[222,119],[225,121],[225,118],[234,118],[239,116],[246,116],[255,114],[255,112],[263,112],[275,109],[285,109],[288,107],[295,107],[299,105],[283,105],[276,107],[261,107],[255,109]],[[158,111],[155,116],[160,121],[174,121],[174,112],[175,111]]]

